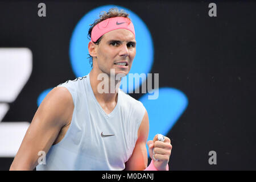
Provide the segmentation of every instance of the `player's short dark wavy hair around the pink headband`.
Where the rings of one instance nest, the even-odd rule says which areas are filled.
[[[125,18],[129,18],[129,14],[126,13],[124,10],[118,10],[117,7],[114,7],[112,9],[109,9],[108,12],[106,11],[102,11],[104,14],[100,14],[100,18],[96,19],[93,24],[89,24],[90,28],[89,28],[89,31],[88,31],[88,35],[87,35],[87,38],[89,40],[91,40],[91,35],[92,35],[92,30],[93,30],[93,27],[96,26],[96,24],[102,22],[103,20],[105,19],[108,19],[108,18],[114,18],[114,17],[118,17],[118,16],[121,16],[121,17],[125,17]],[[131,19],[130,19],[131,20]],[[96,42],[93,42],[94,44],[98,45],[100,44],[101,42],[101,39],[104,35],[102,35],[100,38],[98,38],[98,40],[96,40]],[[93,57],[90,56],[90,54],[88,54],[89,57],[89,63],[90,63],[90,67],[92,67],[93,65]]]

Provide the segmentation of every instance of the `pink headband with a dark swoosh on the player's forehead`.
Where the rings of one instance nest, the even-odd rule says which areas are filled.
[[[133,23],[128,18],[118,16],[105,19],[102,22],[96,24],[96,26],[93,27],[91,34],[92,41],[96,42],[98,38],[100,38],[102,35],[117,29],[130,30],[131,32],[133,32],[133,35],[135,37]]]

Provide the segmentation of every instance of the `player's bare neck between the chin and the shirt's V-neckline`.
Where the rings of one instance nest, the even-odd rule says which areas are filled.
[[[90,71],[90,85],[99,102],[116,103],[120,83],[121,79],[115,80],[115,77],[110,77],[110,75],[100,72],[99,69],[93,68]]]

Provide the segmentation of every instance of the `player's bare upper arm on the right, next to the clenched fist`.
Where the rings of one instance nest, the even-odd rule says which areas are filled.
[[[149,122],[147,111],[144,114],[144,117],[139,126],[138,130],[138,139],[135,144],[133,154],[130,159],[125,164],[125,170],[129,171],[141,171],[147,167],[147,148],[146,142],[149,132]]]

